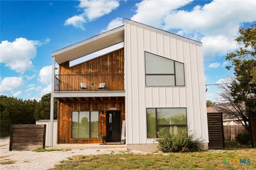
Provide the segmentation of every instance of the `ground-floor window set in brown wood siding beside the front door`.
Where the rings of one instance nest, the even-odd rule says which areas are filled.
[[[99,138],[99,112],[72,112],[72,138]]]

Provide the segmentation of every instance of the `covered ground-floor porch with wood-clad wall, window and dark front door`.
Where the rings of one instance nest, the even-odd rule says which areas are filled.
[[[124,96],[55,99],[58,100],[58,147],[98,147],[99,143],[102,143],[101,135],[105,137],[105,142],[117,142],[115,145],[121,143],[125,121]],[[98,144],[81,146],[84,143]],[[106,148],[108,147],[109,145],[106,145]]]

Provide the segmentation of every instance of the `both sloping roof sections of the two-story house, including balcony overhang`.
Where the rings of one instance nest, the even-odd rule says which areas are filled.
[[[171,32],[167,32],[161,29],[157,29],[151,27],[146,24],[142,24],[140,22],[135,22],[129,19],[124,20],[125,23],[136,25],[137,27],[141,27],[150,31],[154,31],[160,33],[162,35],[170,36],[173,38],[180,39],[182,41],[186,41],[188,43],[193,43],[198,46],[202,46],[202,43],[190,38],[182,37],[180,35],[176,35]],[[55,56],[55,60],[61,64],[66,61],[73,61],[77,58],[89,55],[91,53],[97,52],[103,48],[107,48],[109,46],[121,43],[124,41],[124,28],[125,25],[120,27],[111,29],[109,31],[100,33],[99,35],[93,36],[91,38],[87,38],[85,40],[79,41],[78,43],[69,45],[67,47],[55,50],[52,52],[52,57]]]

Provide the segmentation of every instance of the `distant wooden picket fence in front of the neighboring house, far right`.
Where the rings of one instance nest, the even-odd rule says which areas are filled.
[[[225,140],[235,140],[237,133],[247,133],[243,125],[224,125]]]

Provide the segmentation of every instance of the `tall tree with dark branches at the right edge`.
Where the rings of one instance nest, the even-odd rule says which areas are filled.
[[[222,103],[216,107],[237,117],[251,133],[250,118],[256,114],[256,24],[240,28],[239,33],[235,41],[242,47],[226,56],[232,63],[227,69],[233,67],[235,77],[220,86]]]

